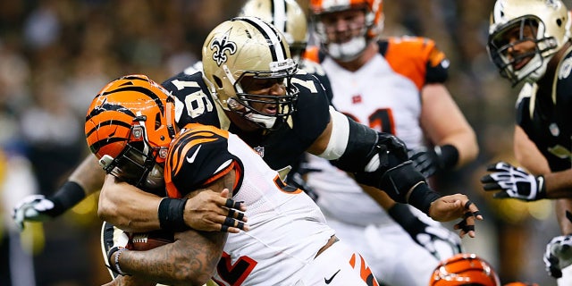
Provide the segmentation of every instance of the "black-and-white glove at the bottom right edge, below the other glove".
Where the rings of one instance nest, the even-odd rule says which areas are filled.
[[[572,235],[553,238],[546,245],[543,260],[547,273],[554,278],[562,277],[562,269],[572,265]]]

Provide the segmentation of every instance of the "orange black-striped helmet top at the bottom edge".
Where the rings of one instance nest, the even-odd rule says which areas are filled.
[[[475,254],[459,253],[435,268],[429,286],[501,286],[488,262]]]

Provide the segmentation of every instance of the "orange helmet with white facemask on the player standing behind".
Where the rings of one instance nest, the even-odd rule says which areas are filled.
[[[366,12],[366,25],[361,35],[347,43],[330,43],[320,17],[326,13],[357,9]],[[310,11],[315,22],[315,32],[324,51],[342,62],[356,59],[366,49],[367,44],[377,40],[383,30],[382,0],[310,0]]]

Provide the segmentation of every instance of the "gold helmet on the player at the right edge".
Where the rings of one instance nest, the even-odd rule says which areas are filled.
[[[510,43],[509,32],[520,30],[520,39]],[[534,38],[523,37],[524,29],[536,32]],[[560,0],[497,0],[491,14],[487,50],[501,75],[516,85],[521,80],[535,81],[546,71],[552,56],[570,38],[568,9]],[[509,55],[511,47],[525,41],[535,44],[533,53]],[[519,69],[514,65],[530,61]]]

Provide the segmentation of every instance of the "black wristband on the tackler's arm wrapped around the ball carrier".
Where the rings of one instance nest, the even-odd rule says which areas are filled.
[[[159,224],[164,231],[189,230],[185,224],[184,212],[187,198],[163,198],[159,203]]]

